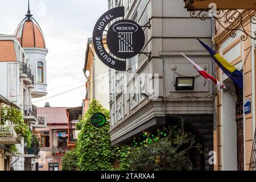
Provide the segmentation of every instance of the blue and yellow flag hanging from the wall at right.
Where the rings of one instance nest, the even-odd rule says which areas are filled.
[[[205,49],[207,49],[207,51],[213,57],[214,61],[218,64],[222,71],[234,82],[234,84],[243,89],[243,73],[240,72],[228,61],[226,61],[223,57],[221,57],[216,51],[213,51],[213,49],[207,46],[207,44],[203,43],[201,40],[199,40],[199,42],[204,46]]]

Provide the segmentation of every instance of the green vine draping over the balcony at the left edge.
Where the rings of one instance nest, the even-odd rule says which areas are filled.
[[[3,107],[1,111],[1,125],[8,121],[15,125],[14,130],[16,133],[24,138],[24,142],[27,143],[28,147],[31,147],[32,132],[24,122],[22,111],[15,107]]]

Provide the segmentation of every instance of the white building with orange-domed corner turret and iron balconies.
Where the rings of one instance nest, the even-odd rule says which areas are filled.
[[[43,33],[34,18],[28,14],[20,22],[15,35],[0,35],[0,94],[23,110],[24,121],[34,131],[46,127],[38,123],[32,98],[46,96],[46,55],[48,50]],[[13,157],[11,166],[16,171],[35,171],[39,148],[16,144],[19,157]],[[38,146],[39,147],[39,146]]]

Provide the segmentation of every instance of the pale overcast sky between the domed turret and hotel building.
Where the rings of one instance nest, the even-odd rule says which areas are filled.
[[[107,0],[30,0],[30,10],[42,28],[46,47],[47,92],[34,105],[81,106],[85,87],[39,101],[85,84],[82,72],[87,39],[97,19],[108,9]],[[27,13],[27,0],[9,0],[0,6],[0,34],[14,34]],[[39,102],[35,102],[39,101]]]

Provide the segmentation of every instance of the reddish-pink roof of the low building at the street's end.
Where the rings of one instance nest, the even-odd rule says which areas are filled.
[[[37,115],[46,116],[47,124],[67,124],[68,117],[66,114],[66,109],[69,107],[38,107]]]

